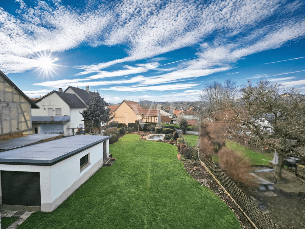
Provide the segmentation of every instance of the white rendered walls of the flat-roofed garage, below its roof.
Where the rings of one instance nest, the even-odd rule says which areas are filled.
[[[109,140],[105,142],[109,158]],[[99,143],[52,166],[0,165],[0,171],[39,172],[41,211],[51,212],[102,167],[103,144],[104,142]],[[86,154],[89,154],[89,163],[81,169],[80,159]]]

